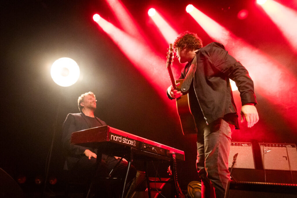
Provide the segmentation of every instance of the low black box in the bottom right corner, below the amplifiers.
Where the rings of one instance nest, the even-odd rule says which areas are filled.
[[[297,185],[229,181],[225,198],[296,198]]]

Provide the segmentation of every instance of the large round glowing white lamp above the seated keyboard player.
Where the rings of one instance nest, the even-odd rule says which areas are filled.
[[[59,58],[50,68],[53,81],[62,87],[68,87],[76,83],[79,74],[79,66],[71,58]]]

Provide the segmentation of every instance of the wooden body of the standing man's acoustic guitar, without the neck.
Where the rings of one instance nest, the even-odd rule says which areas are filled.
[[[178,89],[181,88],[183,81],[184,79],[176,80],[176,83],[180,83],[177,87]],[[181,122],[181,130],[183,134],[197,134],[196,123],[190,109],[189,94],[184,94],[176,99],[176,109]]]

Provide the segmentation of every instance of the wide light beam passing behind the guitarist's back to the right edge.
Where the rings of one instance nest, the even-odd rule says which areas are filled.
[[[283,116],[286,121],[290,122],[291,126],[297,129],[297,92],[292,91],[297,87],[296,78],[284,66],[276,63],[241,38],[236,37],[195,7],[190,15],[211,38],[223,43],[229,53],[248,69],[255,82],[255,90],[265,96],[272,104],[288,108]],[[281,111],[281,108],[278,110]]]

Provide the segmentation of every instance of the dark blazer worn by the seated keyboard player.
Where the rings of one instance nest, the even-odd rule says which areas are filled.
[[[106,123],[95,116],[98,120],[98,126],[104,126]],[[83,152],[89,149],[95,152],[93,148],[71,145],[71,134],[76,131],[81,131],[85,129],[90,129],[91,123],[87,116],[83,113],[69,113],[63,123],[62,127],[62,143],[64,149],[64,155],[66,157],[64,169],[69,170],[73,167],[76,162],[83,157],[85,154]]]

